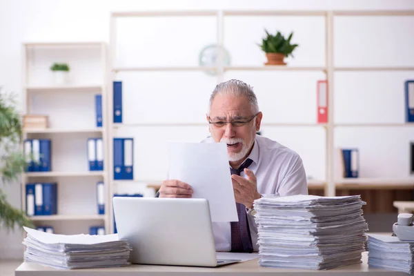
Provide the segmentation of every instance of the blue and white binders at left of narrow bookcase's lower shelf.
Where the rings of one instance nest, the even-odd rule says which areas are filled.
[[[57,184],[26,184],[26,213],[33,215],[57,214]]]

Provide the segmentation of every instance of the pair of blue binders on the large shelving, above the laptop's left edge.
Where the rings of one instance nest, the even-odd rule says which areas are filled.
[[[134,179],[133,138],[114,138],[114,179]]]

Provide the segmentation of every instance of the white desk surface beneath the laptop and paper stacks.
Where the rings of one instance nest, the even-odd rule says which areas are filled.
[[[394,272],[390,270],[368,268],[368,255],[362,254],[362,264],[344,266],[331,270],[303,270],[287,268],[267,268],[259,266],[257,259],[253,259],[238,264],[229,264],[219,268],[197,268],[186,266],[148,266],[148,265],[131,265],[121,268],[95,268],[79,270],[56,270],[38,264],[23,263],[16,270],[15,276],[141,276],[141,275],[404,275],[406,273]]]

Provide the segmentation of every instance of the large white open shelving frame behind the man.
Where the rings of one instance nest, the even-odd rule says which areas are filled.
[[[126,17],[130,18],[139,18],[139,17],[215,17],[215,22],[217,23],[217,45],[219,47],[224,46],[224,37],[226,33],[224,32],[224,21],[228,17],[262,17],[262,16],[272,16],[272,17],[322,17],[325,23],[324,33],[325,33],[325,64],[323,66],[224,66],[223,61],[219,58],[216,67],[202,67],[202,66],[142,66],[139,67],[139,64],[134,64],[134,66],[118,66],[117,63],[117,39],[118,39],[118,19],[124,19]],[[406,17],[414,16],[414,10],[382,10],[382,11],[358,11],[358,10],[344,10],[344,11],[326,11],[326,10],[208,10],[208,11],[192,11],[192,10],[179,10],[179,11],[148,11],[148,12],[114,12],[111,16],[110,23],[110,79],[108,85],[112,85],[112,80],[117,79],[119,73],[123,74],[125,72],[194,72],[194,71],[207,71],[214,70],[217,72],[217,83],[221,82],[224,79],[225,72],[230,71],[290,71],[290,72],[323,72],[326,75],[328,80],[328,123],[327,124],[317,124],[315,123],[276,123],[276,122],[266,122],[262,124],[262,127],[266,126],[279,126],[279,127],[319,127],[323,128],[325,131],[326,144],[325,144],[325,168],[326,175],[325,179],[311,179],[308,181],[309,188],[324,189],[325,195],[333,196],[335,195],[335,188],[354,188],[358,187],[368,187],[368,188],[390,188],[392,184],[394,188],[410,188],[414,186],[414,177],[407,177],[404,179],[393,178],[393,179],[335,179],[335,129],[342,127],[404,127],[411,128],[414,124],[394,124],[394,123],[377,123],[377,124],[337,124],[333,121],[334,118],[334,99],[335,99],[335,72],[388,72],[388,71],[414,71],[413,66],[334,66],[334,19],[337,17],[379,17],[379,16],[395,16],[395,17]],[[221,54],[219,54],[221,55]],[[221,56],[219,56],[221,57]],[[221,57],[222,58],[222,57]],[[181,123],[181,122],[155,122],[155,123],[124,123],[124,124],[113,124],[112,123],[112,90],[108,90],[108,110],[110,110],[110,126],[108,128],[108,140],[110,141],[110,172],[108,173],[111,181],[110,189],[114,184],[122,183],[134,183],[134,182],[147,182],[148,186],[157,187],[160,184],[160,179],[154,179],[153,181],[148,180],[134,180],[134,181],[113,181],[113,148],[112,148],[112,139],[115,137],[115,133],[122,128],[151,128],[151,127],[204,127],[204,123]],[[125,114],[125,112],[124,112]],[[139,141],[135,141],[139,143]],[[136,157],[139,158],[139,157]],[[137,177],[137,175],[135,175]],[[391,187],[392,188],[392,187]],[[110,190],[110,195],[112,195],[112,190]],[[112,214],[110,215],[112,218]]]

